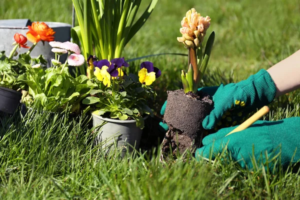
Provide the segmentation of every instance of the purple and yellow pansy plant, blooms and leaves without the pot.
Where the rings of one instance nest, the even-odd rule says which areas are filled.
[[[93,114],[120,120],[134,119],[136,126],[143,128],[143,117],[153,114],[147,105],[147,100],[156,95],[150,85],[161,71],[152,62],[145,61],[140,64],[138,76],[126,74],[123,68],[129,64],[123,57],[98,61],[95,56],[89,56],[87,63],[97,86],[82,103],[90,105]]]

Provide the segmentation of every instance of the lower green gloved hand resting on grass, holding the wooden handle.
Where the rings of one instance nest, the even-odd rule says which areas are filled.
[[[257,164],[260,164],[265,162],[265,151],[267,151],[267,157],[270,160],[280,152],[281,145],[281,165],[283,168],[288,166],[295,150],[296,153],[292,162],[299,161],[300,117],[279,121],[256,121],[250,127],[225,137],[235,127],[222,128],[216,133],[204,137],[203,146],[195,152],[196,159],[199,160],[200,156],[209,158],[209,155],[214,159],[215,154],[222,152],[227,144],[227,151],[233,160],[238,161],[241,167],[247,165],[248,168],[252,168],[251,159],[253,156]],[[252,150],[254,154],[252,154]]]

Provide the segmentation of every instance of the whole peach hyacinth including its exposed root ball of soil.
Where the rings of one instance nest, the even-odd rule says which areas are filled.
[[[181,37],[179,42],[188,50],[188,70],[181,71],[183,89],[167,91],[167,104],[163,121],[168,125],[161,146],[162,153],[170,152],[173,155],[186,149],[193,151],[200,147],[203,127],[202,120],[210,112],[213,102],[209,95],[197,90],[209,60],[214,41],[214,32],[202,50],[202,41],[210,25],[210,17],[203,17],[194,8],[186,12],[181,21]],[[162,154],[163,155],[163,154]]]

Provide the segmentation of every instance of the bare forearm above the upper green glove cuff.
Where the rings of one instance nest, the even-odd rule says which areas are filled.
[[[276,63],[267,72],[276,86],[276,97],[300,88],[300,50]]]

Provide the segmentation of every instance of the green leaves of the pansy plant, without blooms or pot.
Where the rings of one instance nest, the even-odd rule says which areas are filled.
[[[138,82],[138,77],[132,73],[112,81],[112,86],[107,87],[95,79],[97,87],[82,103],[92,105],[93,114],[120,120],[134,119],[137,127],[143,128],[143,117],[153,116],[147,100],[153,99],[156,93],[151,86]]]

